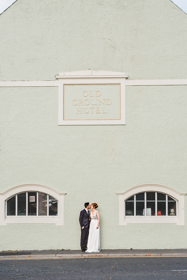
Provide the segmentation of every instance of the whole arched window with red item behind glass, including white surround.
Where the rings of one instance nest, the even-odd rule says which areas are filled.
[[[176,223],[184,225],[184,196],[163,185],[146,184],[119,195],[119,225],[128,223]]]

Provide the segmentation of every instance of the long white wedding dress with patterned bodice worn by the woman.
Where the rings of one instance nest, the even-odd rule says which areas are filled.
[[[87,244],[87,250],[86,252],[99,252],[100,249],[100,226],[97,229],[97,211],[92,214],[90,214],[90,229],[89,229],[89,235],[88,235],[88,244]]]

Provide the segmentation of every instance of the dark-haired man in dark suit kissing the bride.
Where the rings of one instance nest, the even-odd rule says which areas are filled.
[[[89,202],[84,203],[85,209],[83,209],[79,216],[79,222],[81,225],[81,250],[82,252],[86,251],[89,228],[90,228],[90,212],[89,209],[91,205]]]

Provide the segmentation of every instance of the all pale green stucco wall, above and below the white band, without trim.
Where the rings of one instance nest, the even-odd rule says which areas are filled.
[[[0,15],[0,80],[85,69],[185,79],[186,24],[170,0],[17,0]],[[187,226],[119,226],[116,195],[145,183],[187,192],[186,90],[127,86],[125,126],[58,126],[58,87],[0,88],[0,192],[35,183],[67,193],[64,226],[1,226],[0,250],[79,249],[86,201],[99,205],[101,248],[187,248]]]

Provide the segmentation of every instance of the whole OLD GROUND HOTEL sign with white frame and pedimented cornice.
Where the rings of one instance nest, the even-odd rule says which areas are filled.
[[[124,125],[123,72],[84,70],[56,75],[59,125]]]

